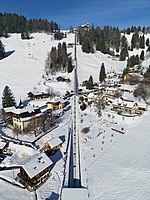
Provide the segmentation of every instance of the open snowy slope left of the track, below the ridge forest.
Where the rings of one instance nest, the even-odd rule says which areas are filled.
[[[57,46],[58,42],[73,41],[71,34],[63,41],[54,41],[51,35],[45,33],[35,33],[32,36],[31,40],[21,40],[20,34],[1,38],[6,52],[14,52],[0,60],[0,97],[4,87],[8,85],[17,100],[25,98],[27,92],[41,81],[47,52],[51,47]]]

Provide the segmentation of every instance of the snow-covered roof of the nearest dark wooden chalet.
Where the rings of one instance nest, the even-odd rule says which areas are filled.
[[[42,172],[47,167],[51,166],[53,162],[48,158],[45,153],[37,153],[28,158],[22,163],[23,169],[28,176],[32,179],[34,176]]]

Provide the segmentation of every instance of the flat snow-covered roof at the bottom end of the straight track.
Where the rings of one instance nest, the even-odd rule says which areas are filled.
[[[63,188],[62,200],[86,200],[88,199],[85,188]]]

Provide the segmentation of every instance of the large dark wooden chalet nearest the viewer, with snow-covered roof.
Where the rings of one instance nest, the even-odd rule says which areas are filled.
[[[36,190],[50,176],[53,162],[45,153],[38,153],[25,160],[18,174],[20,183],[30,190]]]

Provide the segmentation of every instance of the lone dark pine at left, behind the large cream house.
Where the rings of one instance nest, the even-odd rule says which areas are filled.
[[[15,97],[13,96],[12,91],[8,86],[5,86],[3,90],[3,97],[2,97],[2,106],[3,108],[15,106]]]

